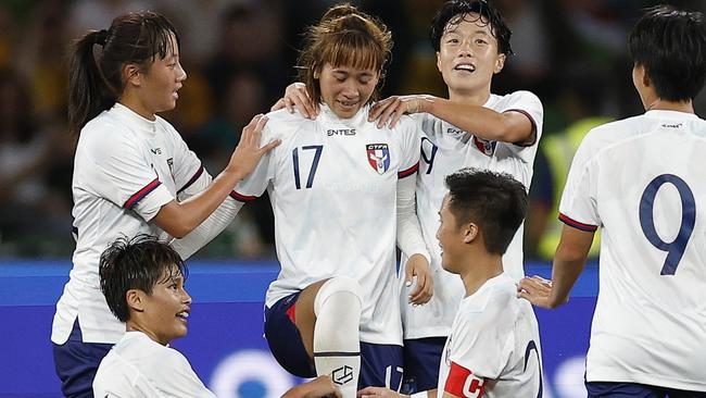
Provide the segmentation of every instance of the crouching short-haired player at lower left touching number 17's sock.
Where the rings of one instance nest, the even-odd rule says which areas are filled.
[[[150,235],[118,238],[102,253],[100,285],[108,307],[126,323],[123,338],[103,358],[96,397],[215,397],[168,344],[187,334],[191,297],[186,263]],[[287,398],[340,397],[330,377],[299,385]]]

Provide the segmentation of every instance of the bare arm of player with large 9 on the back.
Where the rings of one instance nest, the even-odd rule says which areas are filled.
[[[549,283],[539,276],[526,277],[517,287],[518,296],[528,299],[534,306],[549,309],[566,303],[571,287],[583,271],[592,241],[592,232],[565,225],[562,229],[562,240],[554,254],[552,282]]]

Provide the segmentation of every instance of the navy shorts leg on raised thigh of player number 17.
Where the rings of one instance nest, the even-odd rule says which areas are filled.
[[[314,377],[314,363],[294,324],[299,296],[299,293],[287,296],[272,308],[265,308],[265,338],[273,356],[287,372]]]

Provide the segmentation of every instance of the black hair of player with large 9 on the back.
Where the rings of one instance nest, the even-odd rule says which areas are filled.
[[[630,57],[644,66],[657,96],[667,101],[694,99],[706,78],[706,27],[701,12],[670,5],[648,9],[632,28]]]

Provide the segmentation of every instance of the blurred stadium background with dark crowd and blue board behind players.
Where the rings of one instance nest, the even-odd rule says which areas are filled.
[[[106,28],[114,16],[127,11],[154,10],[167,15],[180,33],[181,60],[189,77],[176,111],[164,116],[215,174],[226,164],[242,126],[254,114],[267,111],[285,86],[294,82],[301,33],[336,2],[0,0],[0,316],[3,319],[0,340],[10,341],[14,347],[10,351],[0,349],[0,397],[58,395],[58,381],[51,373],[48,325],[74,248],[71,235],[73,144],[66,133],[66,49],[72,39],[90,28]],[[383,95],[445,96],[427,38],[429,21],[443,0],[351,2],[378,15],[393,33],[395,45]],[[706,11],[706,0],[665,2]],[[496,0],[495,3],[514,32],[512,45],[516,54],[495,77],[493,91],[528,89],[544,104],[544,130],[525,236],[529,273],[547,274],[546,261],[556,242],[556,196],[575,145],[596,123],[642,112],[630,78],[626,38],[641,10],[658,2]],[[706,116],[705,94],[702,92],[695,108],[699,116]],[[200,270],[197,274],[203,275],[205,293],[210,291],[206,286],[223,284],[224,273],[238,275],[225,278],[232,283],[241,277],[254,281],[247,284],[254,289],[247,290],[252,297],[248,293],[235,295],[237,288],[219,285],[224,295],[214,298],[213,303],[207,300],[202,303],[205,308],[214,303],[226,306],[223,311],[231,311],[238,318],[225,325],[235,322],[249,324],[249,328],[235,334],[227,331],[214,334],[217,327],[226,327],[222,323],[228,319],[218,306],[211,308],[213,313],[204,311],[203,316],[192,320],[192,334],[187,341],[201,340],[204,346],[190,348],[194,343],[186,343],[185,350],[194,368],[201,370],[204,381],[212,380],[216,359],[223,359],[203,357],[204,351],[260,350],[255,357],[245,357],[244,363],[256,361],[253,358],[260,358],[257,352],[266,353],[264,340],[260,338],[264,291],[261,289],[276,275],[273,237],[269,203],[261,198],[245,207],[238,220],[192,262],[192,269]],[[577,307],[553,314],[540,313],[545,361],[554,372],[546,375],[552,384],[547,390],[553,397],[581,396],[580,389],[578,395],[571,395],[567,393],[569,389],[565,391],[557,385],[580,383],[580,355],[588,346],[592,297],[596,293],[594,263],[589,272],[593,276],[579,294],[585,301],[576,300],[572,306]],[[200,295],[196,297],[200,301]],[[204,322],[202,326],[198,326],[199,319]],[[545,319],[549,321],[544,322]],[[29,326],[29,322],[39,322],[41,327]],[[34,332],[25,333],[28,327]],[[551,329],[550,338],[547,329]],[[566,334],[564,340],[552,337],[559,334]],[[218,335],[222,340],[230,341],[227,347],[215,337],[204,339],[204,336]],[[255,339],[256,343],[247,343]],[[573,356],[577,352],[578,357]],[[37,376],[36,373],[28,373],[27,380],[16,375],[26,371],[25,366],[31,368],[34,360],[48,361],[42,364],[49,366],[48,373],[39,372],[34,382],[30,376]],[[573,366],[566,373],[572,375],[566,376],[568,382],[562,382],[564,376],[557,375],[560,373],[557,369],[566,371],[564,365]],[[267,375],[268,371],[262,368],[260,374]],[[242,377],[238,388],[248,385],[249,378]],[[226,378],[241,380],[232,375]],[[26,390],[33,387],[27,383],[38,389]],[[241,395],[266,396],[263,386],[266,385],[255,383],[242,389]],[[241,390],[234,388],[230,389]]]

